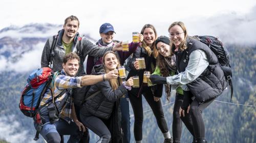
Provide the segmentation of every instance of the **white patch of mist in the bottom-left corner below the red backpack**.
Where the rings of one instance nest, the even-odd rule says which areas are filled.
[[[14,115],[0,117],[0,138],[11,143],[35,143],[35,141],[33,141],[35,130],[32,132],[28,130],[17,132],[22,125],[14,119]]]

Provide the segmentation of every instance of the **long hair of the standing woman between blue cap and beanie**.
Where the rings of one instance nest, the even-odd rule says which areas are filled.
[[[156,31],[156,28],[152,25],[152,24],[145,24],[143,27],[142,27],[142,30],[140,32],[140,34],[144,34],[144,30],[145,28],[152,28],[152,30],[154,31],[155,33],[155,41],[157,39],[157,31]],[[155,41],[152,43],[152,46],[147,46],[146,45],[146,42],[145,40],[142,41],[142,47],[145,49],[145,51],[147,52],[148,56],[151,56],[152,54],[152,49],[153,49],[153,56],[154,58],[157,58],[157,55],[158,55],[158,52],[157,52],[157,49],[156,49],[156,46],[155,46]]]

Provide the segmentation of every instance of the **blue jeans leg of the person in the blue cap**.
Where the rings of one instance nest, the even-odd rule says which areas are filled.
[[[128,94],[120,101],[121,107],[121,127],[123,131],[123,143],[130,143],[131,131],[130,131],[130,110],[129,110],[129,97]]]

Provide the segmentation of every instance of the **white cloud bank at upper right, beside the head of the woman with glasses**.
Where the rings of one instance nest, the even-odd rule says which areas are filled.
[[[247,14],[231,12],[209,18],[193,18],[186,23],[189,35],[212,35],[228,44],[255,45],[255,13],[256,7],[253,7]]]

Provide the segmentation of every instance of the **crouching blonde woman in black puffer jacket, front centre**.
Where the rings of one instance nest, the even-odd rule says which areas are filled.
[[[103,55],[103,65],[95,66],[94,74],[108,73],[120,67],[118,56],[113,51]],[[119,142],[121,127],[118,118],[120,98],[131,90],[133,79],[121,82],[118,79],[105,80],[92,85],[87,93],[87,100],[80,111],[81,121],[95,134],[99,135],[98,142]],[[96,93],[96,94],[95,94]],[[95,95],[95,96],[92,96]]]

